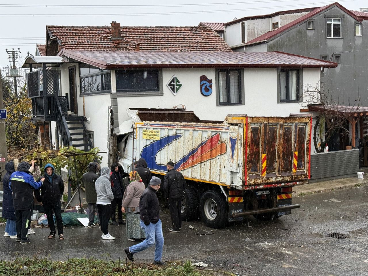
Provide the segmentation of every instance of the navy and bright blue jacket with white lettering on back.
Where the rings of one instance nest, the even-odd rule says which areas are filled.
[[[18,171],[10,176],[9,188],[13,192],[13,206],[15,210],[31,210],[33,206],[33,189],[39,189],[42,181],[36,182],[29,171],[29,164],[21,162]]]

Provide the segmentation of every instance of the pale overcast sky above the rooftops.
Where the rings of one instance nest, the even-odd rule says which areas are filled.
[[[46,6],[46,3],[49,5],[59,3],[61,6],[50,7]],[[9,65],[6,48],[20,48],[22,57],[18,62],[19,66],[22,65],[27,51],[34,55],[36,43],[45,44],[46,25],[102,26],[117,21],[121,26],[197,26],[201,21],[229,22],[234,17],[241,18],[283,10],[320,7],[330,3],[333,2],[324,0],[316,0],[314,3],[307,0],[0,0],[0,66]],[[342,0],[339,3],[348,10],[359,10],[359,8],[368,6],[367,0]],[[128,7],[127,5],[130,4],[135,6]],[[93,5],[99,5],[99,7],[93,7]],[[112,7],[113,5],[116,7]],[[162,5],[169,5],[169,7]],[[73,14],[78,15],[73,16]]]

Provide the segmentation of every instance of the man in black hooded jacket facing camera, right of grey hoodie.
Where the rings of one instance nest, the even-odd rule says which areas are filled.
[[[123,170],[124,172],[124,170]],[[119,166],[117,163],[112,164],[111,173],[110,173],[110,181],[111,181],[111,190],[114,194],[114,199],[111,202],[111,218],[112,225],[125,224],[123,220],[123,212],[121,212],[121,204],[123,203],[123,194],[125,191],[125,187],[123,184],[123,176],[119,171]],[[118,214],[118,223],[116,222],[116,207]]]

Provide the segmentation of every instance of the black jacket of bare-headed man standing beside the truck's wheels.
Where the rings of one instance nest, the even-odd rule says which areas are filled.
[[[175,169],[170,170],[163,177],[163,191],[166,198],[181,198],[185,186],[183,174]]]

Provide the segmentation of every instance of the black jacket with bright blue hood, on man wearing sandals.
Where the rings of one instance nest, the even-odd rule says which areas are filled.
[[[46,173],[46,169],[49,167],[53,169],[51,176]],[[46,164],[44,171],[45,181],[39,190],[35,190],[35,197],[40,202],[57,203],[64,193],[64,181],[61,176],[55,173],[54,166],[50,163]]]

